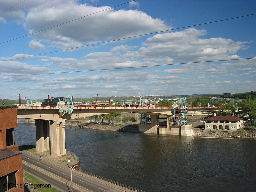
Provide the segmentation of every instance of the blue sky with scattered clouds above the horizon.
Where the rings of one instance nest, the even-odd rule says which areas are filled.
[[[256,57],[256,15],[187,27],[254,14],[255,0],[127,2],[1,0],[0,98],[255,91],[256,59],[230,59]]]

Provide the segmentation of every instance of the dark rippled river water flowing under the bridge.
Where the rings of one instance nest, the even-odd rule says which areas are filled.
[[[18,145],[36,143],[33,121],[19,119]],[[66,149],[81,169],[147,192],[255,191],[256,141],[78,129]]]

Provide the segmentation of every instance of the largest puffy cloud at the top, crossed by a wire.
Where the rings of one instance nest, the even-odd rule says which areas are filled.
[[[107,8],[110,7],[78,4],[75,0],[58,4],[45,1],[28,11],[24,26],[29,33],[33,33]],[[47,29],[44,33],[36,33],[32,37],[34,40],[44,39],[55,47],[71,48],[81,44],[140,35],[155,31],[156,28],[165,30],[170,26],[142,11],[109,9]]]

